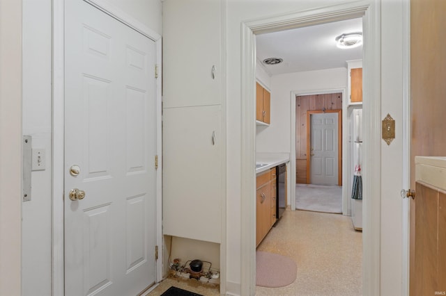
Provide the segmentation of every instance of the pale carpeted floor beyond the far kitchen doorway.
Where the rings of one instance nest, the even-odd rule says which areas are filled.
[[[342,213],[342,186],[296,184],[295,208],[303,211]]]

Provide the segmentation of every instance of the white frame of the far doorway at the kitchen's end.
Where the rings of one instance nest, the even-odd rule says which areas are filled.
[[[348,196],[346,192],[346,188],[344,188],[345,178],[346,178],[346,139],[344,139],[344,135],[346,135],[345,124],[346,118],[344,115],[346,110],[344,110],[344,101],[346,98],[346,88],[324,88],[321,90],[292,90],[291,91],[291,159],[290,159],[290,174],[291,174],[291,186],[290,186],[290,194],[291,198],[291,211],[295,211],[295,99],[298,96],[307,96],[313,94],[332,94],[332,93],[342,93],[342,214],[347,215],[348,213]],[[338,119],[339,120],[339,119]],[[294,185],[294,186],[293,186]]]

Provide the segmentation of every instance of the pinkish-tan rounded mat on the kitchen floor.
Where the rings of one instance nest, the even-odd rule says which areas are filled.
[[[268,252],[256,252],[256,286],[277,288],[295,281],[298,267],[292,258]]]

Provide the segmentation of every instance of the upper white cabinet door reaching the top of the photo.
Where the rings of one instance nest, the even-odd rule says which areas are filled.
[[[221,104],[220,0],[163,1],[165,108]]]

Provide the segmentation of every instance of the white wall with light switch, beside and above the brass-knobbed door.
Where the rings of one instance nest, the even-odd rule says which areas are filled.
[[[160,0],[111,0],[109,2],[121,8],[123,13],[151,28],[155,33],[162,33]],[[22,203],[22,295],[51,295],[51,26],[52,0],[23,0],[22,131],[24,135],[33,136],[33,148],[46,150],[46,170],[32,172],[31,202]],[[60,196],[57,197],[60,198]],[[36,277],[37,271],[38,277]]]

